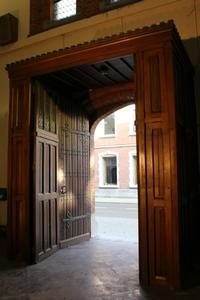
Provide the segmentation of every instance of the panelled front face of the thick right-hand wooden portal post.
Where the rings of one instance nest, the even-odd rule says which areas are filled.
[[[173,80],[169,49],[165,44],[137,56],[140,280],[144,285],[180,284],[175,104],[170,94],[173,88],[169,89]]]

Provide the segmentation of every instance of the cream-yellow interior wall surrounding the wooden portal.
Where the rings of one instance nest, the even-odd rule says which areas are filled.
[[[6,13],[19,18],[19,40],[0,47],[0,187],[7,186],[9,81],[5,66],[11,62],[173,19],[195,67],[197,116],[200,115],[200,0],[143,0],[31,37],[29,1],[0,1],[0,15]],[[5,224],[5,219],[0,219],[2,222]]]

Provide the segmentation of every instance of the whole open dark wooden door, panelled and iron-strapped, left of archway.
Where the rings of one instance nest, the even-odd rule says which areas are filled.
[[[89,121],[73,98],[35,81],[34,257],[90,238]]]

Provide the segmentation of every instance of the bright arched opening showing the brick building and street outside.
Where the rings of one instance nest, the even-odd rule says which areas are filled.
[[[137,262],[138,189],[135,105],[122,107],[106,115],[94,132],[95,197],[91,237],[132,245]],[[129,259],[127,259],[127,262]],[[138,264],[136,263],[136,267]]]

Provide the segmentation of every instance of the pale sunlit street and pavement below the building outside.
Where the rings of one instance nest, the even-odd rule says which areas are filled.
[[[96,202],[92,237],[138,243],[137,204]]]

